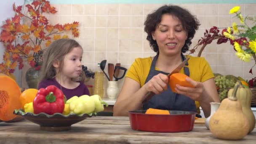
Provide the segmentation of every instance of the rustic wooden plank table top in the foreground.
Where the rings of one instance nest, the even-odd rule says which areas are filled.
[[[40,131],[27,120],[0,123],[0,144],[66,143],[168,143],[168,144],[256,144],[256,128],[244,139],[227,141],[215,138],[205,125],[195,124],[192,131],[155,133],[134,131],[128,117],[90,117],[72,125],[69,131]]]

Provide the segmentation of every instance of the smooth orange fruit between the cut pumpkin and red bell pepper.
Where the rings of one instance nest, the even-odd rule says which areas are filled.
[[[21,101],[21,107],[24,109],[24,105],[33,102],[38,90],[35,88],[29,88],[21,93],[19,100]]]

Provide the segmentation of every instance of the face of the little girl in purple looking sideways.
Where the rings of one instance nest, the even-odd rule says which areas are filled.
[[[73,48],[72,51],[66,54],[63,61],[63,67],[61,75],[70,78],[76,78],[81,74],[82,71],[82,60],[83,49],[80,47]]]

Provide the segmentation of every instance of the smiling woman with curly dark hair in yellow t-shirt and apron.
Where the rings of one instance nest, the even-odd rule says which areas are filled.
[[[200,104],[208,117],[210,102],[219,102],[213,72],[204,58],[182,54],[188,51],[199,21],[179,6],[164,5],[149,14],[144,25],[147,40],[157,55],[133,62],[115,103],[114,116],[148,108],[198,112]],[[188,75],[187,82],[195,88],[176,85],[177,93],[173,93],[167,75],[188,57],[180,73]],[[149,92],[155,95],[144,103]]]

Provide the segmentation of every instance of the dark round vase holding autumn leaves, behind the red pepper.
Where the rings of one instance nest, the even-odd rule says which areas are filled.
[[[35,67],[30,67],[26,72],[26,82],[29,88],[36,88],[40,79],[40,70],[35,69]]]

